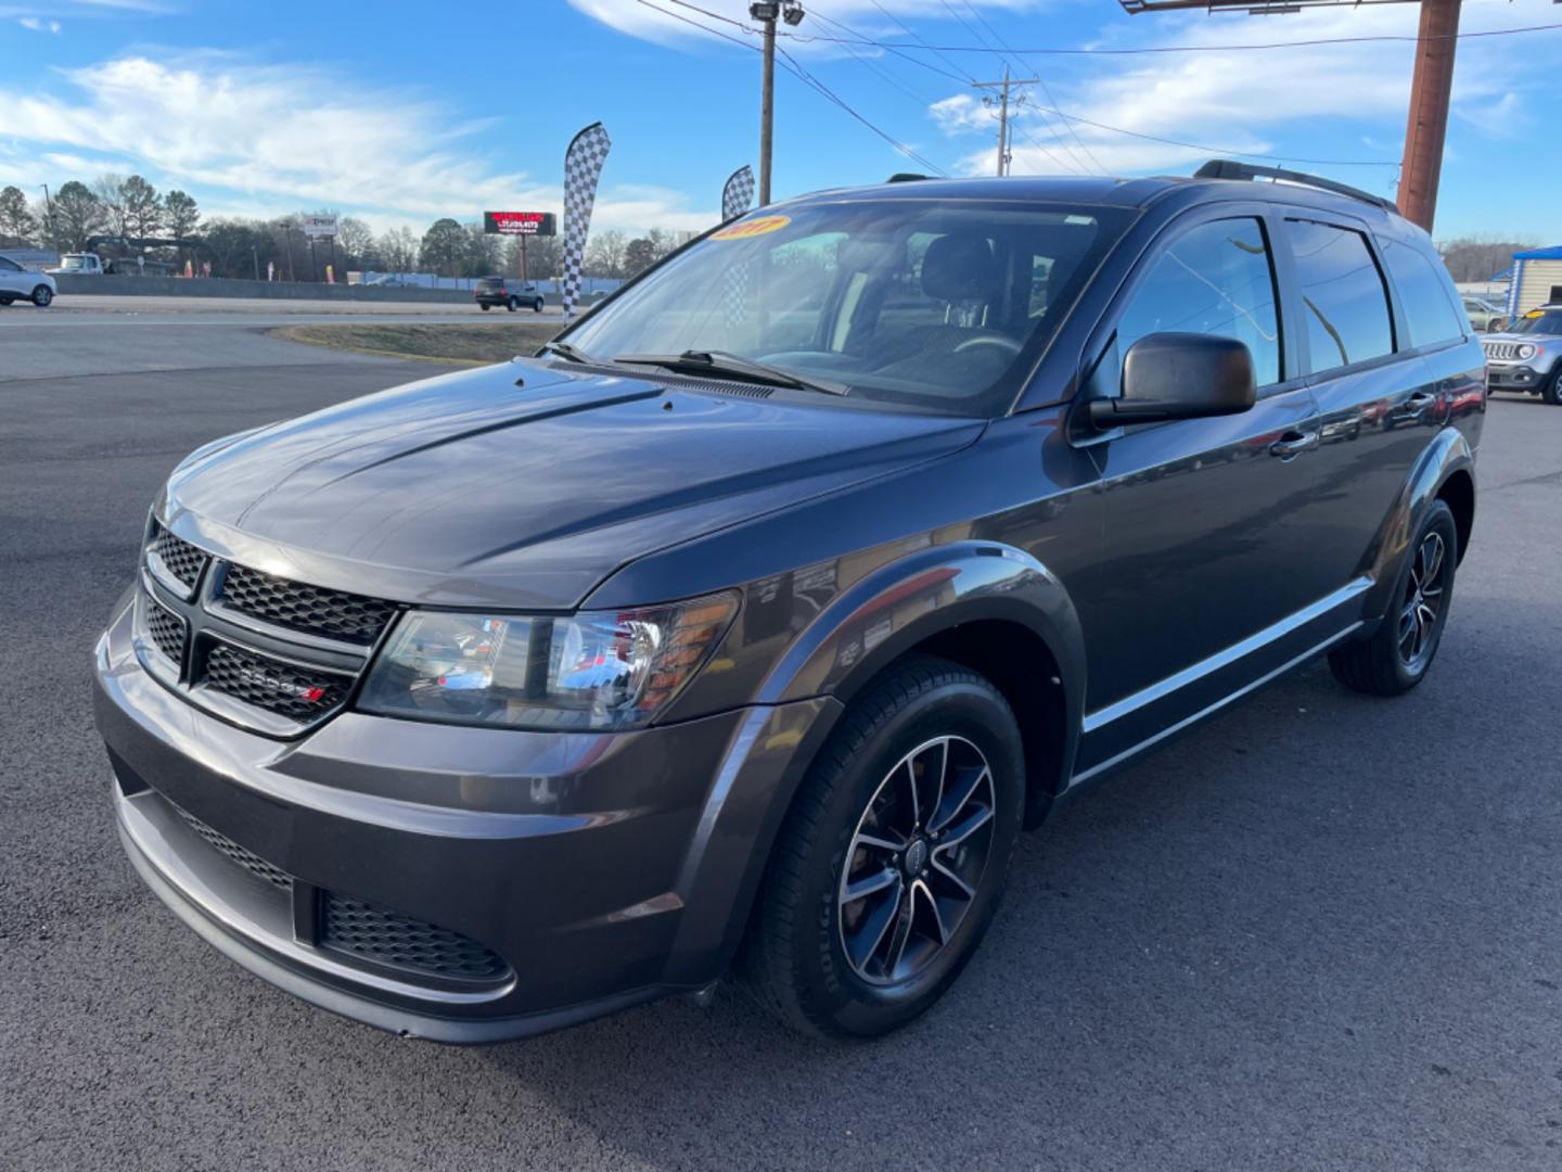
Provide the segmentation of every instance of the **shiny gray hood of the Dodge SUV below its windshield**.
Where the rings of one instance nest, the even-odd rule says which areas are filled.
[[[764,395],[515,361],[211,444],[158,508],[180,536],[283,577],[412,603],[567,609],[634,558],[982,430]]]

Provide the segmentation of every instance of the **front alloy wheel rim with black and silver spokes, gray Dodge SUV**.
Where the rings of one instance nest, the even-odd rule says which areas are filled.
[[[870,984],[897,984],[937,959],[970,911],[992,849],[987,758],[961,736],[912,749],[858,820],[836,895],[840,945]]]

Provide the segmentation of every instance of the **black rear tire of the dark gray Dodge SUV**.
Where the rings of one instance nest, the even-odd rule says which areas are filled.
[[[1423,548],[1432,539],[1442,542],[1442,561],[1432,575],[1423,575]],[[1434,500],[1417,530],[1415,541],[1406,550],[1404,566],[1395,581],[1393,605],[1370,639],[1348,642],[1329,652],[1329,669],[1334,678],[1346,688],[1368,695],[1403,695],[1426,678],[1437,656],[1443,630],[1448,627],[1448,606],[1454,592],[1454,567],[1459,561],[1459,528],[1453,509],[1442,500]],[[1435,580],[1432,586],[1420,577]],[[1425,600],[1423,600],[1425,594]],[[1435,597],[1437,609],[1425,627],[1412,616],[1414,630],[1407,633],[1404,617],[1414,606],[1418,613],[1423,603]],[[1414,653],[1407,653],[1406,641]]]

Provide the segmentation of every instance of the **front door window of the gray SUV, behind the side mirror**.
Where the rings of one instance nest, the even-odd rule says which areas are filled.
[[[1234,338],[1253,352],[1259,386],[1281,378],[1275,272],[1254,219],[1189,228],[1156,258],[1117,323],[1122,353],[1147,334]]]

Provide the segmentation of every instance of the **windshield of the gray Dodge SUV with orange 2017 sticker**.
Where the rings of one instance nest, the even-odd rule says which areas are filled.
[[[728,353],[851,397],[1001,411],[1129,222],[978,200],[761,211],[648,273],[565,338],[598,361]]]

